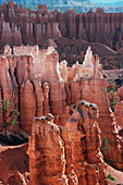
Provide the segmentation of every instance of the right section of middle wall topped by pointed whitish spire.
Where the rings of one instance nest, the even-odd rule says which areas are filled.
[[[83,99],[98,106],[101,140],[107,138],[107,147],[109,147],[107,152],[103,152],[104,159],[116,169],[123,170],[122,145],[118,123],[109,106],[107,82],[102,76],[98,57],[93,55],[90,48],[86,52],[84,64],[76,63],[66,71],[66,77],[69,78],[66,83],[67,104],[74,104]],[[122,124],[121,121],[120,123]]]

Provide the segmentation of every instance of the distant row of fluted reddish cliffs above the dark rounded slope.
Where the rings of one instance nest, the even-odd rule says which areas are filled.
[[[44,37],[63,36],[81,38],[87,41],[102,42],[119,51],[123,47],[122,14],[103,13],[97,9],[96,13],[75,13],[66,10],[48,12],[46,5],[38,5],[38,11],[23,9],[12,1],[0,5],[0,41],[12,46],[40,44]]]

